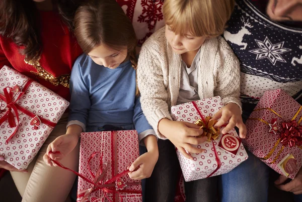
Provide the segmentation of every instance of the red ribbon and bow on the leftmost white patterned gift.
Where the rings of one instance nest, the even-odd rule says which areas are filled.
[[[6,87],[3,89],[4,95],[0,94],[0,99],[2,99],[3,101],[5,101],[7,103],[7,112],[3,115],[3,117],[0,119],[0,125],[2,125],[5,121],[9,121],[9,126],[11,128],[15,128],[14,132],[10,135],[10,137],[6,140],[6,143],[9,142],[10,139],[13,138],[13,136],[16,134],[18,126],[19,126],[19,114],[18,114],[18,110],[22,111],[23,113],[25,113],[26,115],[34,118],[36,115],[30,111],[28,111],[27,109],[21,107],[20,105],[17,104],[18,100],[26,93],[26,90],[28,89],[28,87],[30,86],[30,84],[33,82],[33,80],[29,79],[26,83],[25,86],[23,87],[21,92],[17,92],[19,93],[18,97],[15,99],[14,101],[14,91],[13,88],[11,87]],[[17,118],[17,124],[16,124],[16,120],[14,117],[14,113],[16,115]],[[42,123],[50,126],[50,127],[54,127],[56,125],[56,123],[51,122],[47,119],[44,119],[40,116],[38,116],[41,120]]]

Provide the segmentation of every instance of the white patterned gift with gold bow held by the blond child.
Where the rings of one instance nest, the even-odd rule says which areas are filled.
[[[213,128],[215,122],[209,121],[223,107],[219,96],[188,102],[173,106],[172,118],[175,121],[186,121],[201,126],[208,141],[196,145],[205,149],[202,153],[191,154],[193,160],[186,158],[178,150],[177,156],[185,181],[202,179],[231,171],[248,158],[248,154],[233,128],[222,135],[219,129]]]

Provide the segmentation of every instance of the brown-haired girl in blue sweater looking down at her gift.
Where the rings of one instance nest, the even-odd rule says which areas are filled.
[[[85,54],[75,61],[71,72],[67,132],[49,144],[45,162],[52,166],[50,158],[64,158],[83,131],[136,129],[147,152],[129,165],[129,176],[149,177],[158,159],[158,146],[155,131],[140,108],[132,24],[114,0],[91,1],[80,7],[74,24]],[[48,156],[50,150],[61,154]]]

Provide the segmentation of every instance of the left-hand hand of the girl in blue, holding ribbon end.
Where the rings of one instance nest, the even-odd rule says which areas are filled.
[[[61,135],[55,140],[53,140],[47,147],[46,153],[43,156],[43,159],[45,163],[49,166],[57,166],[55,163],[52,162],[51,159],[54,160],[61,160],[63,159],[67,154],[69,154],[75,146],[77,146],[79,140],[79,135],[77,134],[64,134]],[[48,152],[52,151],[59,151],[60,154],[54,154],[51,153],[48,155]]]

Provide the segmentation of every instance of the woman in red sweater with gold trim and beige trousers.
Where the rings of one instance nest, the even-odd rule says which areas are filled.
[[[0,68],[13,67],[69,100],[69,76],[82,50],[72,30],[73,13],[81,1],[2,0],[0,2]],[[0,168],[11,171],[22,201],[65,201],[75,175],[49,167],[43,155],[50,142],[65,134],[65,113],[27,171],[19,171],[0,157]],[[62,162],[78,169],[79,147]]]

